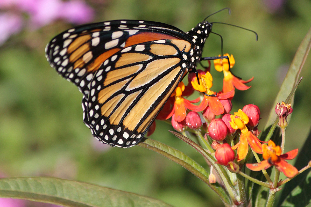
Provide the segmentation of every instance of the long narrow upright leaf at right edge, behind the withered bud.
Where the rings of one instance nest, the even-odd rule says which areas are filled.
[[[298,50],[295,54],[294,60],[292,61],[290,68],[287,71],[286,77],[281,85],[280,91],[277,94],[276,99],[272,105],[265,129],[271,126],[276,119],[274,108],[277,102],[284,101],[286,97],[288,97],[288,94],[290,94],[290,92],[294,88],[295,84],[298,82],[300,71],[308,56],[310,47],[311,47],[311,28],[309,29],[308,33],[306,34],[301,44],[299,45]],[[294,102],[294,99],[292,99],[291,103],[293,104],[293,102]]]

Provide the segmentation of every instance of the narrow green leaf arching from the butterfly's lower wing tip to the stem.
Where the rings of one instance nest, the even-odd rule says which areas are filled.
[[[142,142],[138,143],[138,146],[142,146],[152,151],[155,151],[160,155],[163,155],[168,159],[174,161],[175,163],[180,164],[189,172],[200,178],[209,187],[211,187],[211,189],[220,196],[220,199],[224,202],[226,206],[230,206],[230,198],[228,194],[224,191],[224,189],[218,183],[211,184],[208,181],[209,173],[206,171],[206,169],[204,169],[201,165],[197,164],[196,161],[185,155],[183,152],[149,138],[144,138]]]

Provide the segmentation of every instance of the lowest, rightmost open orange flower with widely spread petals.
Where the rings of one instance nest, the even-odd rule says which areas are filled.
[[[281,147],[276,146],[276,144],[272,140],[270,140],[268,142],[268,145],[262,145],[262,151],[262,158],[264,160],[260,163],[247,163],[246,167],[248,169],[253,171],[259,171],[262,169],[268,169],[269,167],[274,165],[280,172],[284,173],[285,176],[289,178],[294,177],[298,173],[298,170],[294,166],[285,161],[294,159],[298,154],[298,149],[282,154]]]

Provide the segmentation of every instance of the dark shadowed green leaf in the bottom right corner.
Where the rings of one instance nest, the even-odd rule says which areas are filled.
[[[304,142],[302,149],[299,150],[299,155],[297,156],[295,163],[295,167],[298,170],[308,165],[309,161],[311,160],[310,149],[311,131],[307,140]],[[291,206],[303,207],[311,202],[311,173],[309,173],[310,170],[311,168],[305,170],[303,173],[285,184],[277,206],[287,206],[289,203],[291,203]],[[302,193],[300,193],[301,195],[299,195],[298,193],[299,189],[303,190]]]

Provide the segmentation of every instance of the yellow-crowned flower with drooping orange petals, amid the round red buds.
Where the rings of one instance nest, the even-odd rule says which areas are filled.
[[[239,143],[232,146],[233,150],[238,149],[237,161],[243,160],[246,157],[248,153],[248,145],[256,153],[262,154],[262,144],[259,142],[259,139],[246,127],[246,124],[249,122],[248,116],[241,109],[239,109],[239,111],[234,112],[234,115],[231,115],[230,118],[231,121],[229,123],[231,127],[235,130],[241,130]]]

